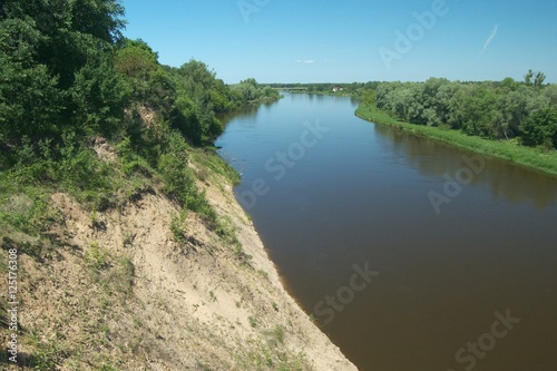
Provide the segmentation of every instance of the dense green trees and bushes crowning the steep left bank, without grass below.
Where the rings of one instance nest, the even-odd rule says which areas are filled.
[[[156,168],[173,130],[211,145],[223,130],[216,114],[278,98],[253,79],[227,86],[196,60],[162,66],[148,45],[123,37],[117,0],[7,0],[0,11],[3,170],[23,158],[59,163],[68,138],[79,152],[95,136],[127,140]]]

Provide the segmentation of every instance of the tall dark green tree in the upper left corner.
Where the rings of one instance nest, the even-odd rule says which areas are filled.
[[[117,120],[119,88],[109,59],[123,13],[116,0],[2,1],[3,140],[17,145],[30,136],[59,141],[66,129],[86,133],[88,125]]]

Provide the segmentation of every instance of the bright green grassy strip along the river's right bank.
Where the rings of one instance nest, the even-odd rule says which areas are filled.
[[[439,127],[402,123],[375,107],[361,104],[355,115],[368,121],[388,125],[416,135],[424,136],[466,148],[475,153],[494,156],[512,162],[517,165],[541,170],[557,176],[557,152],[546,152],[540,148],[530,148],[518,145],[516,140],[495,141],[486,138],[468,136],[458,130]]]

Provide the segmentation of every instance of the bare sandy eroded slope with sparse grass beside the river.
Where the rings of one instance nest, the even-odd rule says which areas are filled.
[[[120,162],[109,143],[96,152]],[[2,370],[356,370],[283,289],[224,160],[199,149],[188,165],[216,228],[153,175],[126,178],[118,206],[95,212],[43,187],[42,236],[0,223],[0,273],[9,252],[18,262],[20,326],[19,365],[0,358]],[[36,202],[16,192],[0,214]],[[1,313],[7,293],[6,281]]]

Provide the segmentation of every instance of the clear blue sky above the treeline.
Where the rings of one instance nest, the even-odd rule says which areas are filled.
[[[443,4],[444,3],[444,4]],[[125,0],[125,35],[162,64],[227,84],[522,79],[557,82],[555,0]],[[422,17],[421,22],[418,20]]]

